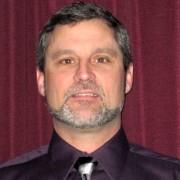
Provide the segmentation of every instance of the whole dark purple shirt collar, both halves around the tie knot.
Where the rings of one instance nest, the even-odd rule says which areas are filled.
[[[123,128],[99,149],[89,154],[94,157],[111,179],[118,179],[129,151],[129,145]],[[65,142],[54,131],[48,150],[48,156],[59,179],[65,179],[77,159],[87,156]]]

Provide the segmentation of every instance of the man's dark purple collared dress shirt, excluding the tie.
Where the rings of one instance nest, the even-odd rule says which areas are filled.
[[[82,156],[92,156],[98,161],[92,180],[180,180],[179,160],[129,144],[123,129],[91,154],[75,149],[56,132],[48,151],[46,149],[43,153],[41,150],[28,153],[16,160],[21,163],[13,162],[15,165],[1,168],[0,179],[80,179],[74,168],[76,160]],[[40,152],[39,155],[37,152]],[[37,157],[31,159],[34,154]]]

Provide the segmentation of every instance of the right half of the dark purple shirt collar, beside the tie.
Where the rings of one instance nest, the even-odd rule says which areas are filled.
[[[119,179],[119,174],[124,168],[128,152],[128,140],[123,128],[121,128],[112,139],[94,151],[91,156],[101,164],[110,179]]]

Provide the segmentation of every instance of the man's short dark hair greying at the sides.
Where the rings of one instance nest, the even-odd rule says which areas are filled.
[[[123,54],[124,69],[131,62],[130,40],[126,28],[108,10],[92,3],[76,2],[56,12],[39,34],[37,45],[37,66],[41,71],[45,67],[45,53],[48,37],[57,25],[78,23],[84,20],[102,19],[114,30],[115,39]]]

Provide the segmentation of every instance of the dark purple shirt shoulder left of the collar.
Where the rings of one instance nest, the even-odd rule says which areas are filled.
[[[48,146],[33,150],[14,158],[0,166],[0,179],[28,179],[41,174],[49,166],[47,157]]]

